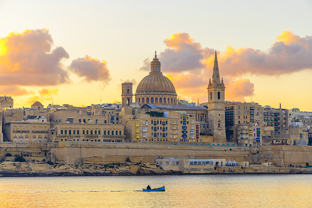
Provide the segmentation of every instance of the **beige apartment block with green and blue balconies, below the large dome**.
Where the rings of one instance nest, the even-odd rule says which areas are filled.
[[[132,115],[133,116],[133,115]],[[127,138],[139,143],[201,143],[199,122],[186,112],[149,111],[129,117]]]

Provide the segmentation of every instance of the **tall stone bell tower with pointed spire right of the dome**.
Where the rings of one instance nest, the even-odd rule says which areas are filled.
[[[220,81],[217,50],[212,72],[212,80],[209,79],[208,90],[208,122],[209,131],[213,134],[214,142],[226,142],[225,134],[225,86],[223,78]]]

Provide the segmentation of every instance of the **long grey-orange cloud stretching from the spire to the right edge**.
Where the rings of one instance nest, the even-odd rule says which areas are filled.
[[[275,76],[312,69],[312,36],[283,31],[276,40],[268,51],[228,46],[218,56],[220,72],[232,77],[248,73]],[[212,60],[203,62],[207,67],[212,65]]]

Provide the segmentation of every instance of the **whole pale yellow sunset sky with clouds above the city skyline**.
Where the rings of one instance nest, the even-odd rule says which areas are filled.
[[[217,50],[225,99],[312,111],[311,1],[3,1],[0,94],[14,107],[121,101],[157,51],[179,99],[207,102]]]

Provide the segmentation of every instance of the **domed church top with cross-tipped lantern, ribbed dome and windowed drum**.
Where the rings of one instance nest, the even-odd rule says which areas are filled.
[[[129,90],[132,91],[132,85]],[[149,75],[140,81],[136,89],[135,102],[139,104],[177,105],[176,90],[172,82],[161,72],[156,51],[151,62]]]

